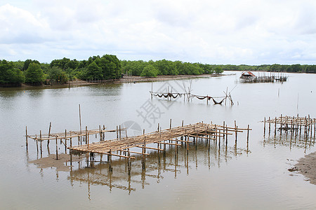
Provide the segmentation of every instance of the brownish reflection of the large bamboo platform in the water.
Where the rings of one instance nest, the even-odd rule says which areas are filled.
[[[222,144],[222,146],[220,146]],[[112,192],[113,189],[126,190],[130,193],[138,189],[144,189],[145,186],[151,183],[160,183],[164,176],[171,176],[177,179],[178,174],[190,174],[192,169],[198,169],[201,165],[208,167],[220,167],[225,162],[228,163],[232,157],[249,153],[250,151],[237,146],[228,146],[224,141],[199,141],[195,145],[189,146],[189,152],[185,144],[175,148],[169,146],[166,153],[152,152],[146,156],[145,168],[142,168],[142,156],[136,156],[132,161],[131,173],[128,169],[128,160],[125,158],[117,158],[112,160],[112,170],[110,169],[107,160],[104,160],[104,155],[93,157],[92,161],[86,167],[82,162],[73,163],[73,169],[68,176],[70,183],[79,181],[86,183],[88,189],[91,185],[107,186]],[[88,160],[88,156],[86,156]],[[98,160],[97,160],[98,159]],[[91,160],[91,157],[90,157]],[[74,169],[76,168],[76,169]],[[90,190],[88,190],[90,199]]]

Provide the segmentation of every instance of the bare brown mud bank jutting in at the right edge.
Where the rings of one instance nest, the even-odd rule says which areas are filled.
[[[310,183],[316,185],[316,152],[299,159],[296,165],[289,169],[289,172],[303,174]]]

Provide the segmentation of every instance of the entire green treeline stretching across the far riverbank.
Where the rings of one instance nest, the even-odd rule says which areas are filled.
[[[0,85],[13,86],[27,83],[67,83],[69,80],[112,80],[121,78],[121,74],[133,76],[158,75],[200,75],[202,73],[222,73],[223,71],[274,71],[316,73],[316,65],[211,65],[166,59],[157,61],[119,60],[116,55],[89,57],[87,60],[54,59],[50,64],[27,59],[24,62],[8,62],[0,59]]]

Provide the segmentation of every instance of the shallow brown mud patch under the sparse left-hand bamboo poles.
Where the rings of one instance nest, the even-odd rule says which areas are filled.
[[[82,158],[84,158],[84,156],[79,158],[78,155],[72,155],[72,162],[80,161]],[[58,160],[56,160],[56,155],[49,155],[46,158],[29,161],[29,163],[37,165],[37,167],[40,169],[55,168],[58,172],[70,172],[69,154],[58,154]]]

